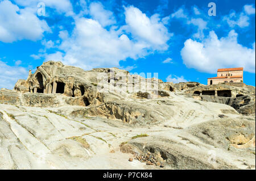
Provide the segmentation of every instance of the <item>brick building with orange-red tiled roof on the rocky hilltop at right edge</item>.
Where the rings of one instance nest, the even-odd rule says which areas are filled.
[[[208,78],[207,85],[225,82],[243,82],[243,68],[218,69],[217,77]]]

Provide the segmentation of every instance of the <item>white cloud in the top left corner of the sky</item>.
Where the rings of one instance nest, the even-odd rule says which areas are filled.
[[[44,20],[39,20],[31,9],[19,9],[10,1],[0,2],[0,41],[39,40],[50,31]]]

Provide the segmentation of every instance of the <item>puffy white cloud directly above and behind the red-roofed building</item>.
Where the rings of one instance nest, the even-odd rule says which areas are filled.
[[[236,67],[255,73],[255,42],[252,48],[247,48],[237,42],[237,36],[232,30],[227,37],[218,39],[216,33],[211,31],[201,42],[188,39],[181,50],[183,63],[188,68],[206,73]]]

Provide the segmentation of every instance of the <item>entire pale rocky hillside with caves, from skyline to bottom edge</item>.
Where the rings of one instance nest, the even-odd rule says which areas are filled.
[[[255,87],[244,83],[48,61],[0,90],[0,124],[0,169],[255,169]]]

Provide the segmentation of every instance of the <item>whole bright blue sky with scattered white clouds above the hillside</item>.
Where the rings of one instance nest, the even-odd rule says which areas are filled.
[[[174,83],[207,84],[218,68],[243,67],[255,86],[255,1],[0,0],[0,88],[48,60]]]

